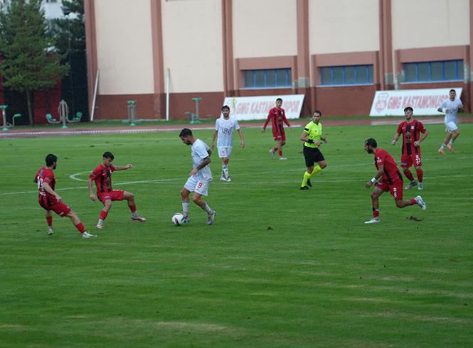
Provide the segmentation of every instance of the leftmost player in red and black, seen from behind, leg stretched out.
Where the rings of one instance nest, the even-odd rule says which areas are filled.
[[[38,183],[39,197],[38,202],[44,210],[46,210],[46,221],[48,222],[48,235],[53,234],[53,212],[60,217],[68,217],[72,220],[74,226],[82,234],[83,238],[96,237],[93,234],[85,232],[84,225],[80,222],[78,214],[70,209],[68,205],[63,203],[63,199],[54,189],[57,180],[54,178],[53,170],[58,165],[58,158],[50,153],[46,156],[46,167],[41,168],[36,174],[33,182]]]

